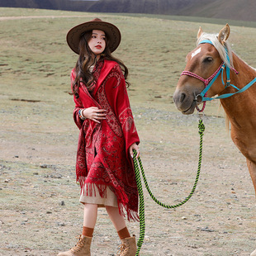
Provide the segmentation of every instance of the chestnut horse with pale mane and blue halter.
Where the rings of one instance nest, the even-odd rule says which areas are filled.
[[[183,114],[192,114],[197,104],[211,97],[220,103],[230,121],[231,138],[247,160],[256,192],[256,69],[246,64],[226,41],[228,24],[219,35],[199,28],[197,48],[187,55],[187,65],[178,80],[173,101]],[[256,255],[256,250],[251,256]]]

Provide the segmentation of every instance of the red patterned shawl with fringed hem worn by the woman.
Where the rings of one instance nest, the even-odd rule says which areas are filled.
[[[107,186],[116,194],[122,216],[138,220],[138,190],[135,172],[128,149],[139,144],[139,136],[130,110],[126,82],[119,64],[100,60],[93,72],[96,84],[92,93],[80,83],[79,97],[73,97],[73,119],[80,133],[76,174],[82,192],[87,184],[87,193],[92,195],[95,187],[101,197],[106,197]],[[71,72],[71,82],[75,78]],[[100,124],[78,116],[81,108],[98,107],[107,111],[106,120]]]

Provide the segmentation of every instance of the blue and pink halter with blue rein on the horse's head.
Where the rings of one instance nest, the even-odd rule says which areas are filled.
[[[211,44],[211,45],[213,45],[211,40],[202,40],[199,43],[199,45],[200,44]],[[226,49],[225,49],[225,52],[226,52],[226,58],[228,60],[228,63],[230,64],[230,57],[229,57],[228,52],[227,52]],[[199,107],[197,106],[197,111],[199,111],[199,112],[204,111],[207,101],[212,101],[214,99],[221,99],[221,98],[231,97],[231,96],[233,96],[237,93],[244,92],[245,90],[247,90],[250,86],[252,86],[256,82],[256,78],[254,78],[250,83],[245,85],[244,88],[239,89],[234,84],[230,83],[230,69],[233,70],[236,74],[238,74],[238,72],[234,68],[230,68],[230,65],[226,65],[224,62],[222,62],[220,64],[220,67],[216,70],[215,73],[213,73],[211,75],[211,77],[206,78],[206,79],[201,78],[201,76],[199,76],[197,73],[192,73],[192,72],[186,71],[186,70],[184,70],[183,73],[181,73],[181,76],[182,75],[188,75],[188,76],[191,76],[193,78],[197,78],[197,79],[201,80],[201,82],[203,82],[205,84],[205,88],[202,90],[202,92],[195,97],[196,102],[198,102],[197,101],[198,97],[201,97],[201,102],[203,102],[203,107],[201,109],[199,109]],[[226,72],[226,83],[224,83],[224,79],[223,79],[223,71],[224,70]],[[222,94],[218,97],[206,97],[208,90],[211,88],[211,85],[216,81],[216,78],[219,77],[220,73],[221,73],[221,81],[222,81],[222,84],[225,85],[225,88],[227,88],[229,86],[232,86],[233,88],[235,88],[237,90],[237,92],[225,93],[225,94]],[[197,103],[197,105],[198,105],[198,103]]]

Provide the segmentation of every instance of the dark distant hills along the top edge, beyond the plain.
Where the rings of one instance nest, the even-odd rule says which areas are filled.
[[[0,7],[149,13],[256,21],[256,0],[0,0]]]

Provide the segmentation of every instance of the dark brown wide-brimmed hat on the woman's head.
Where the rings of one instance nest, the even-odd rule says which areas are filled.
[[[74,26],[67,34],[67,43],[71,50],[79,55],[79,41],[80,37],[84,32],[99,30],[104,31],[107,34],[108,45],[111,52],[116,50],[121,42],[121,33],[119,29],[108,22],[105,21],[88,21],[78,26]]]

